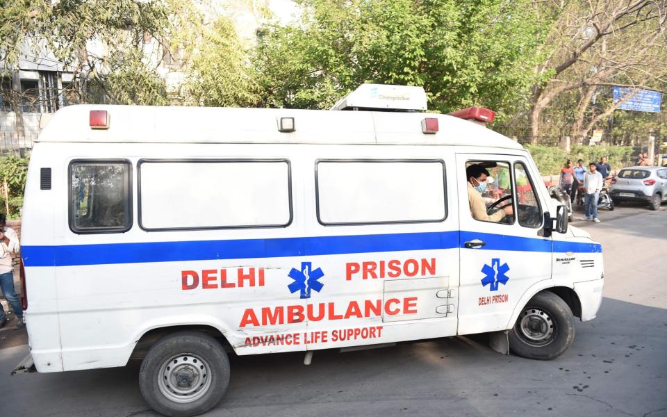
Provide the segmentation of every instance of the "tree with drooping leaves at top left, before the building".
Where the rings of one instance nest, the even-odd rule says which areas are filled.
[[[165,104],[146,49],[169,27],[167,0],[2,1],[0,63],[22,55],[53,57],[74,74],[74,91],[124,104]],[[92,100],[95,101],[95,100]]]

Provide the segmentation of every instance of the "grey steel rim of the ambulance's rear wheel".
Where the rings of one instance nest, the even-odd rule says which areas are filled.
[[[174,402],[199,400],[211,388],[211,368],[195,354],[177,354],[160,367],[158,386]]]

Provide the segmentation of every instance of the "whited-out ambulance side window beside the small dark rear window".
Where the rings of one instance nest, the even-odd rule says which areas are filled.
[[[139,161],[139,225],[151,231],[287,227],[286,159]]]

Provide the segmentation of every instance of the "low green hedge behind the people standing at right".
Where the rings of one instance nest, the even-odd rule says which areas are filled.
[[[600,161],[600,157],[607,156],[607,163],[612,170],[619,170],[628,165],[634,165],[630,160],[632,147],[630,146],[584,146],[575,145],[568,154],[559,147],[543,145],[524,145],[530,152],[538,170],[542,175],[557,175],[565,166],[568,159],[577,165],[579,159],[584,160],[584,165]]]

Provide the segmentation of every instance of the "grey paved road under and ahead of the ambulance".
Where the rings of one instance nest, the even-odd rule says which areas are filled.
[[[480,338],[315,352],[311,366],[302,354],[233,357],[227,396],[208,415],[667,416],[666,206],[620,206],[600,219],[573,224],[604,247],[602,309],[577,323],[558,359],[502,356]],[[17,332],[0,332],[2,416],[155,416],[137,363],[9,377],[27,349],[12,346]]]

